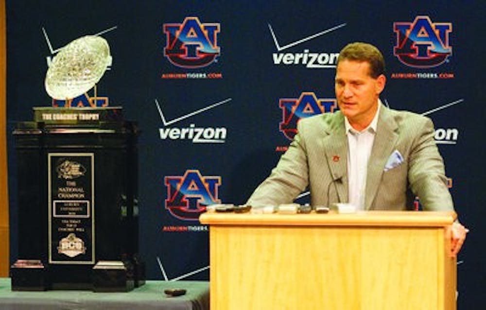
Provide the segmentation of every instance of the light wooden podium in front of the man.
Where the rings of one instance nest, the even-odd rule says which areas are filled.
[[[454,212],[207,212],[211,310],[455,310]]]

